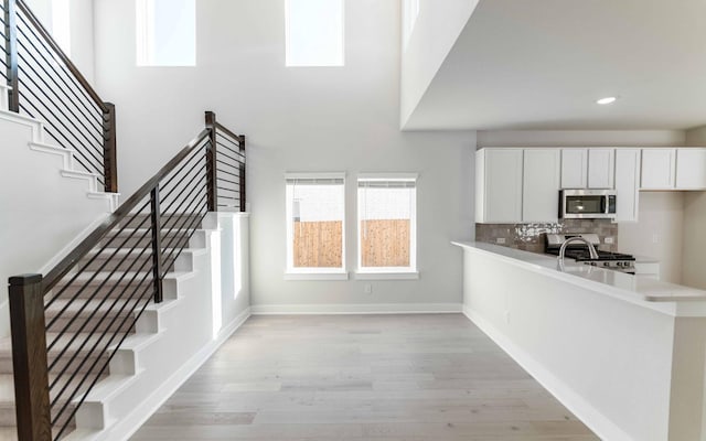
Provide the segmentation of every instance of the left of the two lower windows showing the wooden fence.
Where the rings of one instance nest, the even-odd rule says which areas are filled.
[[[286,175],[287,276],[345,279],[343,173]]]

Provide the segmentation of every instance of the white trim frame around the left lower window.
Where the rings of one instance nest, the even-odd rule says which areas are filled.
[[[343,193],[343,219],[342,219],[342,243],[341,243],[341,267],[340,268],[295,268],[293,256],[289,249],[290,245],[293,245],[293,232],[291,222],[292,212],[289,204],[289,194],[287,190],[287,180],[296,179],[340,179],[343,180],[342,193]],[[349,272],[345,262],[345,172],[288,172],[285,173],[285,227],[287,232],[287,241],[285,244],[286,266],[285,266],[285,280],[347,280]]]

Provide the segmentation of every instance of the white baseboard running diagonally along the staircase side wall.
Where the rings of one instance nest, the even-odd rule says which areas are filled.
[[[96,440],[104,441],[124,441],[128,440],[140,427],[171,397],[176,389],[181,387],[226,340],[228,340],[235,331],[238,330],[250,316],[250,308],[240,312],[227,326],[223,327],[218,337],[201,351],[194,354],[182,367],[179,368],[169,379],[158,387],[152,395],[141,401],[130,412],[130,415],[121,418],[106,432],[100,433]]]

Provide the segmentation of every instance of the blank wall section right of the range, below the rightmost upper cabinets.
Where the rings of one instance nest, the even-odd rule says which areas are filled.
[[[660,260],[660,279],[677,284],[683,282],[685,194],[640,192],[639,222],[618,226],[618,249],[621,252]]]

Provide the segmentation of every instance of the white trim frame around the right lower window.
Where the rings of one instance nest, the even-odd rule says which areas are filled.
[[[411,219],[409,219],[409,267],[364,267],[361,247],[361,200],[359,197],[359,181],[414,181],[415,197],[411,206]],[[359,280],[411,280],[419,279],[417,268],[417,189],[419,173],[359,173],[355,180],[356,215],[355,229],[357,237],[357,269],[355,278]]]

